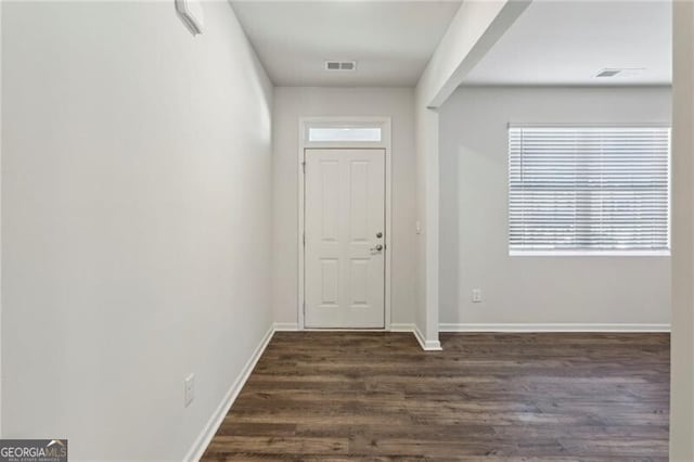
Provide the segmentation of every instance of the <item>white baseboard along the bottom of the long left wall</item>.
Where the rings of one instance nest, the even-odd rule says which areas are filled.
[[[275,332],[275,324],[272,324],[270,325],[270,329],[262,337],[262,341],[260,341],[260,344],[256,347],[255,351],[253,352],[253,355],[244,365],[243,370],[241,371],[241,374],[233,382],[233,384],[229,388],[229,392],[227,392],[221,402],[219,403],[219,406],[217,407],[213,415],[209,418],[209,421],[201,432],[200,436],[195,438],[195,441],[193,441],[193,446],[185,453],[183,461],[198,461],[203,457],[203,454],[205,453],[205,450],[207,449],[210,441],[213,440],[213,437],[215,436],[215,434],[219,429],[219,426],[223,422],[224,416],[227,416],[227,414],[229,413],[229,410],[231,409],[231,406],[236,400],[239,393],[241,393],[241,389],[243,388],[243,386],[246,384],[246,381],[250,376],[253,369],[256,367],[256,363],[258,362],[258,360],[265,352],[265,349],[267,348],[268,344],[272,339],[274,332]]]

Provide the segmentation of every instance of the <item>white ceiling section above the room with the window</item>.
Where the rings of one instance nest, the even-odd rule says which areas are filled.
[[[670,1],[536,0],[464,85],[670,85]],[[645,68],[595,78],[603,68]]]

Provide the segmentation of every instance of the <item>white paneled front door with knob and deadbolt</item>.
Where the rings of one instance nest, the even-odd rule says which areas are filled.
[[[385,151],[306,150],[307,328],[384,328]]]

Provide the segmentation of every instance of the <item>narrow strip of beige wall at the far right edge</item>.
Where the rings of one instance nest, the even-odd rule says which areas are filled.
[[[694,4],[673,4],[670,460],[694,460]]]

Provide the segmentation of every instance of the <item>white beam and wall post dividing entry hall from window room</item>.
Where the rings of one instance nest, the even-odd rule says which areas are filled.
[[[470,70],[523,14],[530,0],[464,1],[434,51],[415,91],[417,330],[425,349],[440,349],[439,329],[439,114]],[[446,252],[446,249],[444,249]]]

